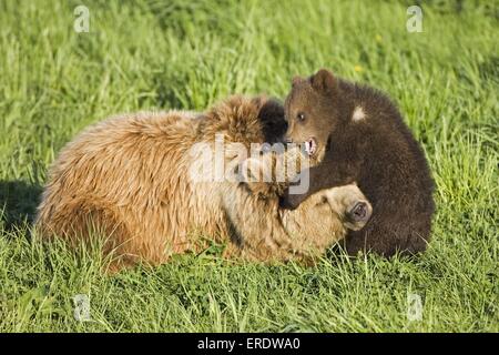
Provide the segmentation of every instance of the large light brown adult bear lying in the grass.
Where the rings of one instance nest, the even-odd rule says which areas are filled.
[[[359,230],[370,204],[355,185],[324,190],[295,211],[278,207],[282,184],[192,179],[196,143],[275,142],[285,132],[281,103],[232,97],[204,113],[141,112],[90,126],[61,151],[38,207],[43,239],[72,243],[105,235],[112,271],[136,262],[226,245],[224,256],[309,263]],[[220,136],[220,135],[218,135]],[[224,159],[234,159],[225,153]],[[268,155],[267,155],[268,156]],[[274,160],[273,160],[274,161]],[[357,216],[356,209],[368,216]]]

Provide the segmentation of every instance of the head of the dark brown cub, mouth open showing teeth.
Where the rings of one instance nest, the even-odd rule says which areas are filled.
[[[320,69],[309,78],[294,78],[284,104],[286,142],[305,144],[310,160],[320,161],[329,136],[348,123],[343,114],[345,104],[339,81],[330,71]]]

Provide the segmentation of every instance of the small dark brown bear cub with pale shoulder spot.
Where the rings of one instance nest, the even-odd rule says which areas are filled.
[[[309,174],[308,191],[287,191],[284,207],[296,209],[318,190],[356,182],[373,204],[373,216],[345,239],[349,254],[426,250],[434,181],[421,148],[385,94],[322,69],[293,80],[285,114],[286,140],[305,144],[312,168],[302,172]]]

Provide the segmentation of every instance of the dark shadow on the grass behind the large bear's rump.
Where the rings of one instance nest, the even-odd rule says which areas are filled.
[[[0,181],[0,217],[8,231],[34,219],[42,186],[24,181]]]

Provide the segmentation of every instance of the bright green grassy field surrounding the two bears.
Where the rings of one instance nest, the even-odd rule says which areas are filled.
[[[499,332],[498,1],[422,1],[420,33],[404,1],[89,0],[77,33],[80,3],[0,2],[0,332]],[[105,276],[95,252],[31,241],[47,169],[85,125],[283,98],[322,67],[388,92],[424,144],[438,212],[420,258],[305,268],[214,248]]]

